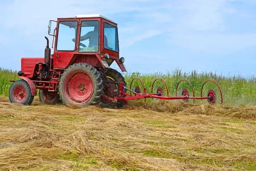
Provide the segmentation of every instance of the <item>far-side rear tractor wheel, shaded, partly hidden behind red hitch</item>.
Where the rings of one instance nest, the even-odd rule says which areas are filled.
[[[117,96],[120,84],[108,83],[105,81],[122,81],[124,83],[123,85],[126,86],[125,78],[121,75],[121,73],[112,68],[108,68],[108,71],[105,73],[105,80],[103,81],[103,92],[106,96],[111,98]],[[126,92],[126,89],[123,89],[123,91]],[[101,98],[100,102],[102,107],[122,107],[124,104],[123,101],[117,101],[117,103],[113,103],[103,98]]]

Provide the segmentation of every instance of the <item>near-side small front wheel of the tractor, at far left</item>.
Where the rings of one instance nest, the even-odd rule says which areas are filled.
[[[30,105],[34,100],[31,88],[25,80],[15,81],[9,89],[9,99],[11,103]]]

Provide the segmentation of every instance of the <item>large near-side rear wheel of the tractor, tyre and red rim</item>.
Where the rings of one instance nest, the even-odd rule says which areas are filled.
[[[91,65],[70,65],[61,75],[58,94],[64,104],[79,106],[99,104],[102,96],[102,78]]]

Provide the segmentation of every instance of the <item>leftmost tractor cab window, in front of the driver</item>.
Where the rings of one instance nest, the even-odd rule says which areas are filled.
[[[60,21],[58,25],[58,51],[74,51],[76,44],[77,21]]]

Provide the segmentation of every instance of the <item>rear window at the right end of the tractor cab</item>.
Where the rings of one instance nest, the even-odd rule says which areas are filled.
[[[119,52],[117,27],[104,23],[104,48]]]

